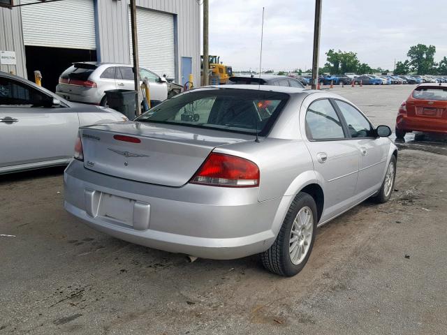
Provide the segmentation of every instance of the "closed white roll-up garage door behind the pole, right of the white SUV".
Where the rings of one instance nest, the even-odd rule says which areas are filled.
[[[132,36],[129,10],[129,45]],[[153,70],[158,75],[175,77],[174,17],[170,14],[137,9],[138,57],[140,67]]]

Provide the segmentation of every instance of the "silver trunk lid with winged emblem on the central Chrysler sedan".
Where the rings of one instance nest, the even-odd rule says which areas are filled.
[[[81,136],[85,168],[174,187],[186,184],[215,147],[253,140],[250,135],[131,121],[81,128]]]

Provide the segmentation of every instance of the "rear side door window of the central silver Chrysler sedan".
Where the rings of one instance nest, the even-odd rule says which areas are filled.
[[[314,101],[306,113],[306,135],[309,140],[344,138],[342,122],[328,99]]]

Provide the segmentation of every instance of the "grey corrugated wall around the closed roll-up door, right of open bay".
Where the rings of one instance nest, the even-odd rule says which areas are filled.
[[[97,52],[101,61],[130,64],[129,1],[97,0]],[[137,0],[137,6],[175,15],[177,82],[181,82],[181,59],[192,57],[195,85],[200,83],[200,6],[197,0]],[[138,23],[138,22],[137,22]]]

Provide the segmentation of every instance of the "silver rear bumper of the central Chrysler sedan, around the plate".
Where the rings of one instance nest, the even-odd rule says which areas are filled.
[[[257,188],[157,186],[92,172],[79,161],[68,165],[64,186],[64,207],[69,213],[91,228],[150,248],[200,258],[233,259],[261,253],[275,239],[272,223],[281,198],[258,202]],[[135,225],[135,211],[133,225],[92,215],[95,210],[89,208],[86,190],[148,204],[148,225]],[[95,206],[101,206],[100,202]]]

